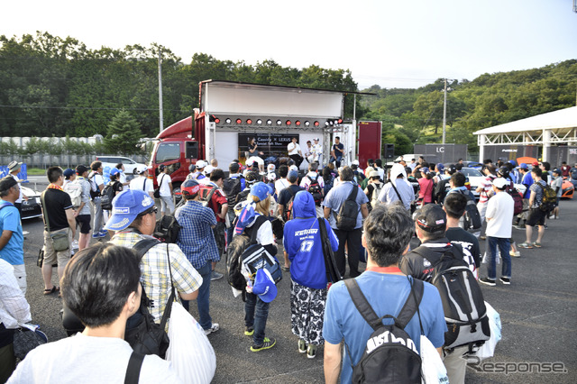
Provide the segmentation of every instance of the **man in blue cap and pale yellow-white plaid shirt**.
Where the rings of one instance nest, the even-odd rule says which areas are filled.
[[[142,189],[129,189],[114,197],[112,216],[105,229],[115,231],[110,240],[115,245],[133,248],[142,239],[150,239],[156,227],[157,208],[154,199]],[[169,266],[170,265],[170,266]],[[141,282],[149,298],[149,312],[156,323],[170,296],[172,284],[183,300],[194,300],[202,277],[177,244],[158,243],[142,257]]]

